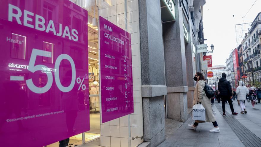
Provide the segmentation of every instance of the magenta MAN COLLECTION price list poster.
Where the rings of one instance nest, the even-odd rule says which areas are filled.
[[[100,17],[102,123],[133,113],[131,37]]]

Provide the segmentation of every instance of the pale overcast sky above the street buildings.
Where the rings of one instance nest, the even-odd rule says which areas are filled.
[[[204,38],[208,50],[211,50],[211,44],[214,45],[214,52],[207,54],[212,55],[213,65],[226,65],[230,51],[237,47],[235,24],[243,23],[245,15],[244,23],[252,22],[261,12],[260,6],[261,0],[206,0],[203,6]]]

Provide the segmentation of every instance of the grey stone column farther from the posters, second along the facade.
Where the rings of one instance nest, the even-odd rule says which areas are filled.
[[[184,122],[188,118],[188,81],[182,7],[176,4],[175,11],[176,21],[163,23],[167,113],[168,118]]]

